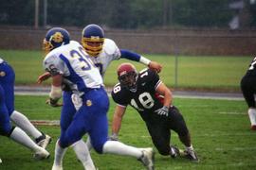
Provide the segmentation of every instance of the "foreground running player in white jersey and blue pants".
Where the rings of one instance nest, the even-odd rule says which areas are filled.
[[[154,151],[152,148],[129,146],[117,141],[107,140],[107,110],[108,96],[102,87],[102,78],[99,69],[88,58],[82,45],[69,41],[68,32],[60,27],[53,27],[46,33],[45,49],[49,51],[44,59],[44,67],[52,77],[49,104],[56,106],[62,97],[62,85],[68,86],[72,93],[77,93],[82,99],[82,106],[74,116],[63,114],[62,123],[69,124],[61,132],[56,143],[55,158],[52,169],[63,169],[63,158],[66,148],[81,141],[82,136],[88,133],[91,144],[98,153],[113,153],[137,158],[148,169],[154,169]],[[66,103],[64,103],[65,106]],[[88,155],[88,150],[84,149]],[[83,152],[83,154],[85,154]],[[83,162],[86,169],[95,169],[93,162]]]

